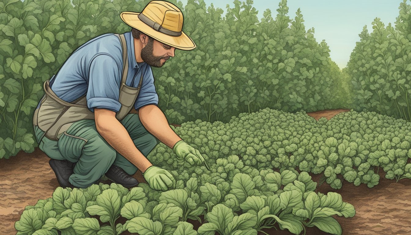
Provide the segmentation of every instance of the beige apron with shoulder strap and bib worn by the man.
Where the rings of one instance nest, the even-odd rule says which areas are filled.
[[[143,73],[139,85],[130,87],[125,84],[128,71],[127,46],[123,34],[115,34],[121,42],[123,53],[123,72],[120,86],[118,102],[120,110],[115,114],[116,119],[122,120],[133,108],[137,95],[143,82]],[[82,119],[94,120],[94,113],[87,107],[86,95],[74,100],[72,103],[66,102],[55,95],[49,86],[50,80],[44,82],[45,95],[41,100],[40,107],[35,110],[33,125],[38,126],[44,134],[39,138],[39,142],[46,136],[50,140],[58,140],[60,135],[67,131],[76,121]]]

